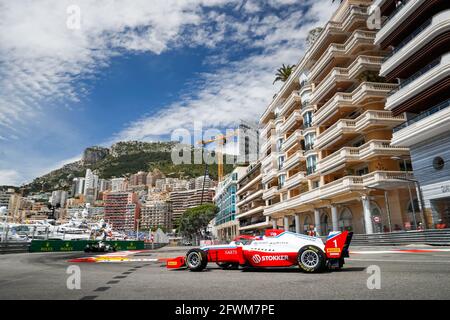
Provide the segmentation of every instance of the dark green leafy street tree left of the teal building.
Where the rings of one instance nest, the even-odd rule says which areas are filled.
[[[219,208],[211,203],[189,208],[179,220],[178,231],[189,238],[201,236],[202,231],[218,212]]]

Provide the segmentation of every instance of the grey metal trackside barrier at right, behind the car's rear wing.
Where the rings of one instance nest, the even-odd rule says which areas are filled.
[[[408,244],[450,245],[450,229],[354,234],[353,246],[395,246]]]

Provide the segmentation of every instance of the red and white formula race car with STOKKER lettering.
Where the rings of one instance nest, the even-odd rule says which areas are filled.
[[[239,236],[228,245],[191,249],[186,256],[168,259],[167,268],[202,271],[215,262],[222,269],[298,265],[304,272],[339,270],[349,257],[352,236],[348,231],[331,232],[324,244],[318,237],[270,229],[262,237]]]

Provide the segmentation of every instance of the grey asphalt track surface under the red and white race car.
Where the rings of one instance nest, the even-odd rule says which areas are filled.
[[[429,249],[407,247],[403,249]],[[449,299],[450,250],[392,252],[351,247],[339,272],[305,274],[298,268],[231,270],[215,264],[199,272],[167,270],[160,258],[187,248],[130,254],[131,261],[75,263],[84,253],[24,253],[0,256],[0,299]],[[398,250],[399,248],[395,248]],[[92,255],[90,255],[92,256]],[[67,268],[79,266],[81,289],[67,288]],[[381,271],[381,288],[368,289],[368,267]]]

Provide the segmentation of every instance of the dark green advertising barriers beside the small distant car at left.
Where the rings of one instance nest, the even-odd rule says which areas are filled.
[[[92,243],[92,241],[33,240],[31,241],[30,252],[83,251],[88,243]],[[144,241],[105,241],[105,243],[113,245],[117,251],[144,249]]]

